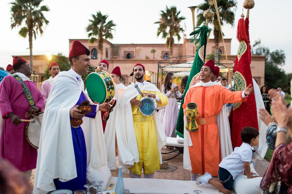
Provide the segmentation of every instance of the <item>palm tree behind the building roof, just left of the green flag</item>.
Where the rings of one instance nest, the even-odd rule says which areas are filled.
[[[166,38],[166,47],[169,48],[170,57],[173,57],[173,46],[174,38],[176,36],[178,41],[180,40],[180,32],[183,32],[183,28],[180,27],[180,22],[185,20],[185,17],[179,16],[180,11],[177,11],[175,6],[168,8],[166,10],[161,10],[161,18],[158,22],[154,24],[159,24],[157,29],[157,36],[162,33],[162,38]]]

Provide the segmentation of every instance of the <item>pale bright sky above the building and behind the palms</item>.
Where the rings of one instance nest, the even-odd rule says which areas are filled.
[[[237,0],[237,10],[234,26],[224,25],[224,38],[232,38],[231,54],[235,55],[238,49],[236,40],[237,23],[242,13],[244,0]],[[29,41],[18,34],[20,28],[12,29],[9,4],[12,0],[0,1],[0,66],[5,67],[12,63],[11,55],[29,55]],[[166,6],[176,6],[181,11],[180,15],[186,17],[182,25],[185,33],[192,32],[192,14],[189,6],[197,6],[203,0],[44,0],[42,5],[50,9],[44,15],[50,21],[42,36],[33,40],[33,54],[58,54],[65,56],[69,53],[69,39],[86,39],[86,26],[89,24],[91,14],[97,11],[109,15],[108,20],[113,20],[117,25],[113,32],[114,38],[109,40],[116,44],[129,43],[165,43],[166,40],[157,37],[158,24],[154,22],[160,18],[161,10]],[[273,50],[284,50],[286,63],[282,67],[287,73],[292,72],[292,38],[291,25],[284,25],[290,21],[292,1],[282,0],[276,4],[271,0],[255,0],[255,7],[250,10],[250,40],[251,45],[260,39],[262,44]],[[197,10],[195,12],[195,15]],[[244,14],[246,10],[244,9]],[[196,18],[197,19],[197,18]],[[288,23],[288,22],[286,22]],[[183,34],[181,34],[183,39]],[[211,35],[210,38],[213,38]],[[175,43],[183,43],[183,40]]]

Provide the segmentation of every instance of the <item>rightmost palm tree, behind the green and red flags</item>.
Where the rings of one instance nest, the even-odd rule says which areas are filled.
[[[197,26],[200,26],[206,21],[203,13],[209,8],[209,0],[204,0],[205,2],[200,4],[197,8]],[[220,15],[221,25],[230,24],[234,26],[234,12],[236,10],[236,0],[217,0],[218,12]],[[218,50],[219,42],[221,38],[220,27],[218,22],[218,16],[216,14],[215,6],[211,7],[211,10],[214,12],[214,17],[209,19],[209,24],[213,24],[213,34],[214,34],[214,58],[215,62],[218,62]]]

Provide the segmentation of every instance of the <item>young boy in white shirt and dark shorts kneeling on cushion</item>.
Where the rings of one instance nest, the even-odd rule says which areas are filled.
[[[251,158],[254,152],[253,146],[258,145],[259,132],[253,127],[244,127],[240,132],[242,144],[234,148],[234,151],[223,158],[219,164],[219,179],[212,178],[211,174],[206,172],[196,181],[197,184],[207,185],[208,183],[218,188],[222,193],[230,194],[232,182],[242,171],[245,172],[248,179],[259,177],[251,175]]]

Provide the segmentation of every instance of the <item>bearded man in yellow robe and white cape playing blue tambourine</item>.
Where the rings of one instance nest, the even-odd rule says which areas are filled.
[[[158,109],[167,105],[167,97],[154,84],[144,80],[142,64],[136,64],[131,75],[135,76],[142,94],[156,100]],[[162,163],[161,148],[166,144],[166,135],[157,112],[148,117],[140,112],[141,99],[133,82],[120,98],[117,110],[119,125],[116,126],[119,163],[123,171],[130,170],[131,178],[140,178],[142,168],[145,178],[153,178]]]

